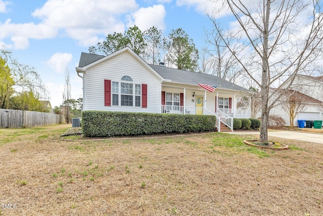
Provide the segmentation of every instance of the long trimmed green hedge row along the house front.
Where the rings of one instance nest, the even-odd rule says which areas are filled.
[[[85,137],[115,137],[215,131],[216,116],[83,111]]]

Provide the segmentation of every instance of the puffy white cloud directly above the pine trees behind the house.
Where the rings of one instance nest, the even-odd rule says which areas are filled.
[[[132,20],[128,26],[137,25],[141,30],[155,26],[157,29],[164,30],[166,10],[163,5],[154,5],[148,8],[140,8],[132,14]]]

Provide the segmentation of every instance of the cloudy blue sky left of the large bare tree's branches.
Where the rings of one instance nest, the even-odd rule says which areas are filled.
[[[35,67],[52,107],[60,106],[66,69],[72,98],[82,97],[75,67],[81,52],[107,34],[134,25],[142,31],[155,26],[165,36],[182,28],[201,49],[204,29],[211,26],[205,11],[212,7],[209,0],[0,0],[0,47]]]

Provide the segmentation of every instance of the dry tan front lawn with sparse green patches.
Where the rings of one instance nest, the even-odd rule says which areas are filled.
[[[62,141],[69,127],[0,129],[0,202],[17,205],[2,215],[322,215],[321,144],[275,138],[292,149],[259,150],[220,133]]]

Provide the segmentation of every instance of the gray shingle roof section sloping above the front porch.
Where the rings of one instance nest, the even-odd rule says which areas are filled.
[[[152,67],[164,79],[170,79],[175,82],[182,82],[182,83],[189,83],[189,84],[201,83],[201,84],[215,85],[217,87],[220,86],[221,89],[249,92],[249,90],[243,87],[240,87],[239,85],[236,85],[232,82],[229,82],[223,78],[220,78],[218,76],[205,74],[205,73],[191,72],[187,70],[179,70],[179,69],[174,69],[174,68],[169,68],[169,67],[159,66],[159,65],[150,64],[150,67]]]

